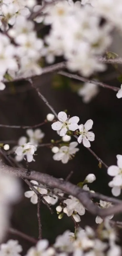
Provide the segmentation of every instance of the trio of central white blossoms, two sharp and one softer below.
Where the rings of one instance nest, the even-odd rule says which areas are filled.
[[[85,147],[90,147],[90,141],[94,141],[94,133],[89,132],[93,126],[93,121],[91,119],[83,125],[78,125],[79,117],[74,116],[69,118],[67,114],[63,111],[58,113],[58,120],[54,122],[51,126],[52,129],[58,131],[60,136],[65,136],[68,131],[76,131],[75,134],[79,135],[77,141],[79,143],[83,142]],[[79,130],[79,132],[78,132]],[[69,146],[62,146],[56,154],[53,156],[54,160],[61,160],[62,163],[67,163],[71,158],[72,154],[76,153],[79,149],[75,148],[77,146],[76,142],[71,142]]]

